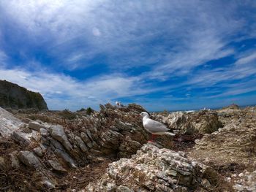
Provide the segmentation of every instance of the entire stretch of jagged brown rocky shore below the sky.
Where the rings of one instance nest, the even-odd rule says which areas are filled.
[[[237,110],[231,115],[222,110],[154,114],[155,119],[171,122],[170,128],[177,133],[174,138],[159,137],[154,145],[146,144],[149,134],[138,116],[142,111],[145,111],[143,107],[136,104],[127,107],[105,104],[100,106],[99,112],[77,115],[77,118],[67,121],[56,120],[56,116],[50,114],[54,120],[48,123],[29,120],[26,115],[21,115],[23,124],[13,129],[10,136],[0,137],[0,182],[4,184],[3,188],[14,191],[253,189],[255,184],[249,182],[249,178],[254,177],[255,166],[249,166],[249,162],[255,158],[254,108]],[[12,116],[10,113],[4,114]],[[40,113],[43,117],[48,114]],[[10,116],[10,119],[15,119]],[[50,117],[43,119],[49,120]],[[59,122],[59,125],[52,122]],[[233,124],[236,125],[235,131],[230,128]],[[188,129],[193,131],[184,131]],[[207,130],[208,134],[202,130]],[[179,145],[187,142],[181,141],[182,137],[192,138],[189,142],[194,143],[194,135],[198,133],[204,136],[195,141],[194,148],[179,148]],[[225,138],[225,134],[240,140],[236,143],[234,139]],[[246,139],[247,136],[249,139]],[[236,145],[234,153],[229,150],[233,145]],[[180,149],[185,153],[178,151]],[[241,151],[244,152],[237,155]],[[227,158],[242,157],[248,164],[223,161],[222,157],[228,152]],[[232,169],[236,169],[236,172]],[[224,170],[228,173],[224,173]],[[20,173],[23,177],[18,176]],[[234,177],[234,174],[240,176]]]

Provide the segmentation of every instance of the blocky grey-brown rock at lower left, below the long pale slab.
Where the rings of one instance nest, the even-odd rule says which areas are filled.
[[[32,153],[31,151],[20,151],[18,153],[18,158],[23,164],[26,164],[26,166],[30,166],[33,168],[42,167],[42,164],[37,156],[34,155],[34,153]]]

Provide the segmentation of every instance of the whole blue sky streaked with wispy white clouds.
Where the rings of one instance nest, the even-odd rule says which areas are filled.
[[[50,110],[256,102],[256,1],[0,1],[0,80]]]

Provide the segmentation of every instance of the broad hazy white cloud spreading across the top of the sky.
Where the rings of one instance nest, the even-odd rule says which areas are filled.
[[[1,1],[0,7],[10,22],[17,23],[32,36],[48,38],[53,47],[48,51],[54,56],[63,54],[65,61],[67,55],[72,58],[77,52],[83,53],[76,64],[61,62],[71,70],[87,66],[79,60],[93,58],[98,53],[107,54],[110,67],[118,70],[148,66],[161,60],[160,71],[164,69],[170,73],[176,68],[191,68],[214,56],[232,54],[232,50],[223,48],[228,43],[223,39],[243,26],[243,20],[230,17],[236,12],[234,5],[222,12],[219,4],[210,1],[113,4],[107,0],[10,0]],[[144,51],[150,49],[144,43],[162,36],[173,48],[153,46],[152,53],[144,55]],[[61,54],[62,47],[67,49]],[[163,53],[159,54],[160,51]],[[123,58],[121,62],[116,61],[118,56]],[[158,71],[158,67],[155,70]]]

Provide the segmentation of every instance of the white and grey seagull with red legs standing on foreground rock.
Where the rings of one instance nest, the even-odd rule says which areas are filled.
[[[151,133],[151,142],[154,142],[154,138],[156,137],[156,135],[162,135],[162,134],[167,134],[171,136],[175,135],[173,133],[168,132],[170,130],[164,124],[149,118],[149,115],[147,112],[141,112],[140,116],[143,117],[144,128],[146,128],[146,130],[149,133]]]

